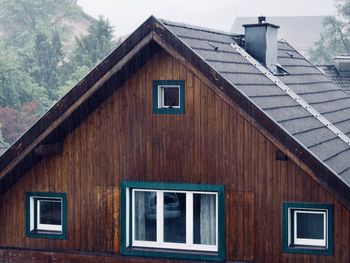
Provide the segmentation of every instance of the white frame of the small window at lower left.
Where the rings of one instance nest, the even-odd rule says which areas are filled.
[[[61,203],[61,225],[41,224],[40,223],[40,202],[59,202]],[[35,206],[37,213],[35,215]],[[37,225],[35,226],[35,219]],[[63,200],[59,197],[30,196],[30,231],[49,231],[62,233],[63,224]]]

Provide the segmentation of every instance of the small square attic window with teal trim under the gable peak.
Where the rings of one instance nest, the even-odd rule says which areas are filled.
[[[158,114],[185,113],[183,80],[153,81],[153,112]]]

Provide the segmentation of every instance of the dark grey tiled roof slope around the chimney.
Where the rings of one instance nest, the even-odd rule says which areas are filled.
[[[349,145],[235,51],[232,35],[162,22],[350,187]],[[290,73],[280,80],[349,135],[350,97],[285,41],[278,43],[278,63]]]

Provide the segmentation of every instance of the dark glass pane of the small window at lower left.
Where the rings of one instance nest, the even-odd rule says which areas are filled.
[[[61,225],[61,202],[39,200],[40,224]]]

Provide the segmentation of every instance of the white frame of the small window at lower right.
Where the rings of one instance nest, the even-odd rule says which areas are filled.
[[[323,215],[323,239],[312,239],[312,238],[298,238],[297,236],[297,214],[322,214]],[[291,225],[291,218],[293,217],[293,226]],[[313,209],[295,209],[289,208],[289,220],[288,220],[288,241],[289,244],[295,246],[317,246],[317,247],[327,247],[328,238],[328,213],[327,210],[313,210]],[[293,240],[291,240],[291,231],[293,229]]]

